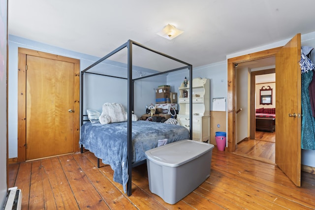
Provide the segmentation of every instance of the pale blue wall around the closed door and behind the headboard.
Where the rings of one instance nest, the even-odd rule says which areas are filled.
[[[39,43],[29,39],[9,35],[9,84],[8,84],[8,138],[9,138],[9,158],[17,157],[17,134],[18,134],[18,48],[27,48],[31,50],[37,50],[45,53],[56,54],[69,58],[75,58],[80,60],[80,70],[84,70],[86,67],[93,64],[99,58],[77,53],[62,48],[50,46],[47,44]],[[120,43],[124,44],[124,43]],[[120,46],[118,45],[118,46]],[[105,54],[104,54],[105,56]],[[100,63],[95,68],[104,69],[106,73],[111,72],[112,76],[126,77],[126,65],[120,65],[115,67],[110,64]],[[115,69],[114,69],[115,68]],[[95,70],[95,69],[91,69]],[[134,70],[134,75],[138,76],[139,71]],[[146,69],[139,68],[144,71]],[[147,69],[149,73],[152,70]],[[114,73],[113,73],[114,72]],[[146,75],[148,75],[147,73]],[[115,79],[113,77],[103,77],[99,75],[85,74],[85,86],[89,89],[84,91],[84,112],[86,109],[97,109],[101,110],[102,105],[105,102],[119,102],[122,103],[125,108],[127,106],[127,80]],[[135,109],[134,113],[140,117],[145,114],[146,106],[151,103],[155,103],[155,88],[159,85],[166,84],[166,76],[156,76],[141,81],[135,82]],[[143,91],[146,90],[146,91]]]

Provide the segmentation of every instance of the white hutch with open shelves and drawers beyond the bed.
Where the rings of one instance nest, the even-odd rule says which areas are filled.
[[[185,95],[187,91],[187,97]],[[210,79],[192,80],[192,97],[189,95],[189,83],[179,87],[180,106],[177,120],[189,129],[189,100],[192,99],[192,139],[210,143]]]

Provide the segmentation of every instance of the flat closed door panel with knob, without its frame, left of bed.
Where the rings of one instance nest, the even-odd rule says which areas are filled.
[[[26,159],[73,152],[73,63],[27,56],[27,66]]]

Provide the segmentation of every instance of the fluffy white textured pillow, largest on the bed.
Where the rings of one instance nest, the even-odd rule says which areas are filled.
[[[102,114],[99,117],[100,123],[105,124],[110,119],[110,122],[127,121],[125,109],[120,103],[104,103]],[[108,117],[109,116],[109,119]]]

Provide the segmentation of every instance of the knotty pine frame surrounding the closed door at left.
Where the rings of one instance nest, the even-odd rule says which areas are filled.
[[[80,60],[44,53],[26,48],[18,49],[18,158],[26,161],[26,56],[36,56],[51,60],[60,60],[74,64],[73,81],[73,152],[79,152],[80,138]],[[56,145],[60,147],[60,145]]]

